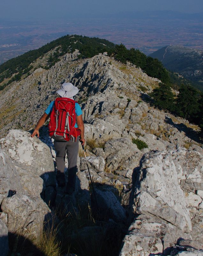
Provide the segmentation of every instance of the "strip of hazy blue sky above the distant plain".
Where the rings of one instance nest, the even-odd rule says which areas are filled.
[[[0,0],[0,18],[87,17],[122,11],[203,12],[203,0]]]

